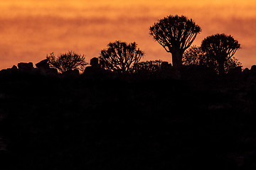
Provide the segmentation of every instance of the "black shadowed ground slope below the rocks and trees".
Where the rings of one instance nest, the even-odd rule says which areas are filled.
[[[0,169],[256,167],[253,76],[0,81]]]

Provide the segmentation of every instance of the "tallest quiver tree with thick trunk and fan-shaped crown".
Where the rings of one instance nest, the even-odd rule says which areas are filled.
[[[149,33],[171,52],[174,67],[180,72],[183,52],[191,46],[196,35],[201,32],[200,26],[186,16],[167,16],[149,28]]]

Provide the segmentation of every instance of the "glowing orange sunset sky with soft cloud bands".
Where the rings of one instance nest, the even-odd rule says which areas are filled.
[[[256,64],[255,0],[1,0],[0,69],[70,50],[89,62],[115,40],[137,42],[145,52],[142,61],[171,62],[149,27],[176,14],[201,26],[193,45],[216,33],[233,35],[243,68]]]

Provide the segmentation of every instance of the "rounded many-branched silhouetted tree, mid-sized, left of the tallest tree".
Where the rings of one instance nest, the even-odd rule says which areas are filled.
[[[132,64],[137,64],[144,52],[137,48],[137,43],[110,42],[107,49],[100,53],[100,65],[116,72],[129,72]]]

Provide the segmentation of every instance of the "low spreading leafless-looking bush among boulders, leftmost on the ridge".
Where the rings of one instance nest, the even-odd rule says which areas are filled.
[[[46,56],[46,59],[48,60],[50,67],[54,67],[62,73],[73,69],[82,70],[87,64],[84,55],[78,55],[72,51],[60,54],[58,57],[52,52],[50,55]]]

